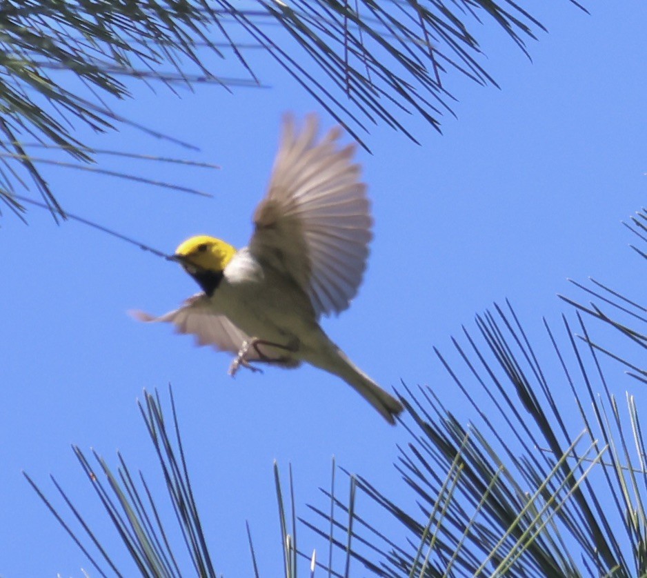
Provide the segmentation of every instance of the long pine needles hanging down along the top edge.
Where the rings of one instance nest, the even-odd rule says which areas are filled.
[[[252,49],[267,52],[360,142],[377,122],[414,139],[403,117],[417,114],[438,128],[454,99],[452,70],[495,83],[481,65],[481,21],[497,23],[524,51],[543,30],[511,0],[5,2],[0,201],[21,215],[16,194],[31,182],[52,215],[64,217],[46,166],[101,174],[104,155],[150,156],[89,146],[79,128],[103,133],[128,123],[159,137],[163,127],[140,127],[112,110],[132,82],[170,90],[271,82],[252,70]]]

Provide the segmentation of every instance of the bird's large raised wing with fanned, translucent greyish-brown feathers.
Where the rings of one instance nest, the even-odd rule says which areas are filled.
[[[294,279],[317,315],[350,305],[366,269],[372,217],[355,146],[340,147],[341,128],[317,139],[315,114],[283,134],[266,197],[254,215],[249,249]]]

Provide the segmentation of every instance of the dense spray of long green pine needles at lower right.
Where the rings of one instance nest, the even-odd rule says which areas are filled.
[[[639,257],[646,224],[641,210],[628,225]],[[476,332],[464,328],[453,353],[435,350],[448,383],[405,386],[411,441],[396,468],[417,510],[355,476],[393,524],[357,515],[351,532],[352,504],[339,499],[338,515],[312,508],[319,522],[304,522],[321,535],[328,524],[351,532],[351,555],[377,576],[646,575],[647,452],[630,390],[647,381],[647,304],[599,281],[575,286],[593,300],[564,297],[575,316],[560,328],[544,321],[550,358],[539,359],[508,304],[477,317]],[[435,390],[455,392],[455,408],[467,402],[470,421]]]

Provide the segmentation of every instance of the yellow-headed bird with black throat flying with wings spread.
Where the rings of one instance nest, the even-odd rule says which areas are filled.
[[[401,402],[319,325],[321,316],[338,315],[357,295],[372,240],[356,145],[341,146],[342,134],[335,126],[319,138],[317,114],[308,114],[300,128],[286,114],[248,246],[237,250],[210,235],[183,241],[168,258],[201,292],[161,317],[131,313],[140,321],[172,323],[177,332],[195,335],[199,345],[234,353],[232,376],[241,367],[259,371],[261,363],[310,363],[346,381],[395,424]]]

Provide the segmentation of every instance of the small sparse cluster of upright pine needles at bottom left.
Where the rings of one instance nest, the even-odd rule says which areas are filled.
[[[134,475],[121,455],[116,474],[97,452],[92,452],[94,459],[90,460],[83,450],[74,446],[74,455],[79,459],[83,473],[115,526],[121,545],[128,551],[141,576],[179,578],[191,572],[200,577],[215,578],[217,572],[193,496],[170,388],[169,395],[172,428],[166,423],[157,393],[151,395],[145,391],[144,403],[139,403],[150,441],[159,459],[163,479],[161,484],[151,487],[141,471],[139,475]],[[97,465],[92,466],[93,462]],[[91,575],[94,572],[100,576],[128,575],[128,569],[119,568],[115,561],[116,557],[112,553],[114,546],[111,548],[103,544],[102,538],[92,530],[90,521],[72,505],[72,497],[54,477],[52,483],[72,512],[70,521],[63,519],[52,501],[27,474],[25,477],[86,555],[92,564]],[[168,502],[175,516],[165,517],[162,513],[161,498],[152,490],[160,485],[166,486],[168,490]]]

